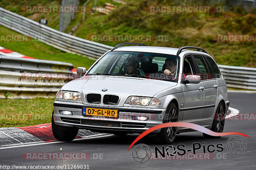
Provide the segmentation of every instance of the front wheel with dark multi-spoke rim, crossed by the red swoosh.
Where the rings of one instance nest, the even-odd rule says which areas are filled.
[[[164,115],[163,123],[178,122],[178,111],[174,103],[171,103]],[[171,144],[177,133],[177,127],[162,128],[154,137],[157,144]]]

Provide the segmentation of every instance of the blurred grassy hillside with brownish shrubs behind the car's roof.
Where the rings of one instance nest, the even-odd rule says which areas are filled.
[[[181,5],[209,5],[209,1],[187,1]],[[192,3],[192,4],[189,4]],[[201,3],[201,4],[200,4]],[[204,4],[205,3],[205,4]],[[137,41],[150,46],[204,48],[218,64],[256,67],[256,43],[220,42],[217,35],[255,35],[256,13],[240,7],[224,13],[154,13],[150,5],[175,6],[177,1],[127,1],[108,15],[89,15],[74,35],[89,39],[91,35],[166,35],[167,41]],[[213,6],[225,4],[213,4]],[[124,41],[98,41],[115,46]],[[127,42],[127,41],[126,41]]]

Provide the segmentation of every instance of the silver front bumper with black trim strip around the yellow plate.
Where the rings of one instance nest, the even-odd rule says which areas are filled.
[[[117,119],[83,116],[83,107],[117,109]],[[71,111],[73,115],[61,115],[60,110]],[[79,128],[102,133],[142,133],[163,122],[166,108],[87,106],[83,103],[54,101],[53,117],[56,125],[65,128]],[[132,116],[147,116],[148,121],[132,120]],[[158,133],[160,129],[152,133]]]

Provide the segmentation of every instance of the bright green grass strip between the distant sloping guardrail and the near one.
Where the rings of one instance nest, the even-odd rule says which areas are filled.
[[[0,26],[0,35],[21,35],[4,26]],[[62,61],[72,63],[74,67],[89,67],[95,60],[80,55],[74,55],[48,46],[40,41],[0,41],[0,46],[12,51],[42,60]]]

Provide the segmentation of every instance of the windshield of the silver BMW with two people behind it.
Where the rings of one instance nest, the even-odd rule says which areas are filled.
[[[175,55],[109,52],[88,72],[88,75],[132,76],[178,81],[179,58]]]

